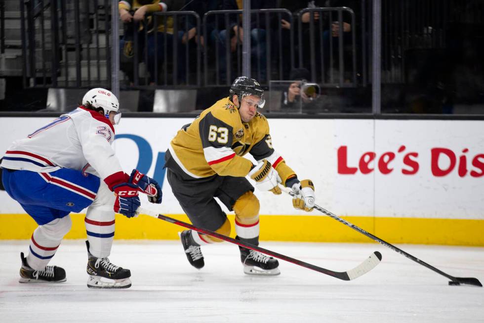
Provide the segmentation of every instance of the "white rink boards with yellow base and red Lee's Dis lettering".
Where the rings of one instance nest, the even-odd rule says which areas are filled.
[[[0,150],[52,118],[0,118]],[[126,172],[137,168],[163,188],[161,206],[188,221],[165,180],[164,152],[191,118],[123,118],[115,148]],[[484,245],[484,121],[269,119],[272,143],[300,179],[313,180],[317,204],[395,243]],[[318,211],[292,209],[290,197],[256,189],[261,239],[370,242]],[[0,191],[0,239],[29,238],[36,225]],[[73,215],[69,238],[85,237]],[[233,215],[230,216],[233,223]],[[179,227],[148,217],[116,218],[116,238],[176,239]]]

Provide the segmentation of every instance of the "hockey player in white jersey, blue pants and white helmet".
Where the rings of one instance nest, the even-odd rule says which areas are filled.
[[[61,115],[27,138],[14,141],[2,158],[2,184],[37,222],[27,257],[21,253],[20,282],[61,282],[64,269],[47,266],[71,229],[70,212],[87,207],[87,286],[127,288],[128,269],[108,256],[115,212],[130,218],[140,205],[138,191],[161,203],[161,187],[133,170],[125,174],[111,146],[121,112],[105,89],[86,92],[82,105]],[[113,193],[114,192],[114,193]]]

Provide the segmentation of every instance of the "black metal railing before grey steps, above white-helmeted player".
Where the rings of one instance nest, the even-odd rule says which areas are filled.
[[[37,2],[21,5],[24,87],[109,86],[111,1]]]

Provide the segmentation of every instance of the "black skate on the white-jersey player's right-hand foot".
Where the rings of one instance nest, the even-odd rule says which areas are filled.
[[[87,287],[89,288],[128,288],[131,286],[131,272],[129,269],[113,265],[109,259],[96,258],[89,252],[89,241],[87,246]],[[108,281],[101,279],[107,278]]]

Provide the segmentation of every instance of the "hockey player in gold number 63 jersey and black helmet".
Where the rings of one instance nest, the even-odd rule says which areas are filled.
[[[198,227],[229,235],[227,215],[214,199],[217,197],[235,212],[237,239],[258,245],[259,200],[245,176],[260,190],[281,194],[279,183],[290,187],[299,198],[297,209],[311,211],[314,185],[299,181],[282,156],[274,150],[267,119],[257,111],[264,105],[264,90],[256,80],[239,77],[230,96],[204,110],[191,124],[178,131],[165,155],[167,179],[181,207]],[[258,162],[244,157],[250,153]],[[192,266],[204,265],[201,245],[221,240],[196,231],[180,234]],[[244,273],[278,275],[279,263],[262,253],[239,247]]]

